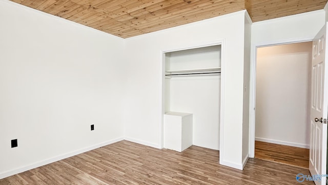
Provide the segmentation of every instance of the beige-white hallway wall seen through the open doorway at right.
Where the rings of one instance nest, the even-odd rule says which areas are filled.
[[[255,139],[309,148],[312,42],[257,49]]]

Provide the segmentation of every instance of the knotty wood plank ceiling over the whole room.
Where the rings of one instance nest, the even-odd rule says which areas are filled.
[[[11,0],[121,38],[247,10],[253,22],[323,9],[328,0]]]

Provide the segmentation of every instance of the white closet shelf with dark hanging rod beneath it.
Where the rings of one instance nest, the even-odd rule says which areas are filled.
[[[165,71],[165,76],[187,76],[187,75],[215,75],[221,73],[221,67],[206,68],[206,69],[187,69],[187,70],[168,70]]]

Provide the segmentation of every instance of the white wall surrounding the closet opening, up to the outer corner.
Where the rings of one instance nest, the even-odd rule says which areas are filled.
[[[241,168],[244,11],[127,39],[126,138],[162,147],[161,52],[224,40],[224,143],[220,163]],[[223,120],[223,121],[222,121]],[[223,147],[223,148],[222,148]]]

